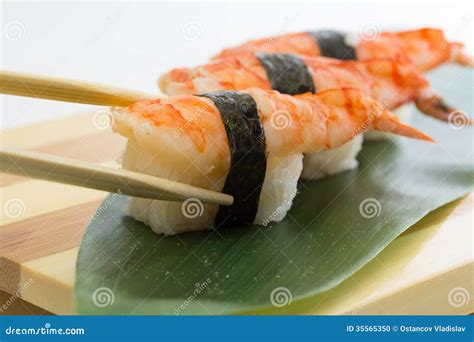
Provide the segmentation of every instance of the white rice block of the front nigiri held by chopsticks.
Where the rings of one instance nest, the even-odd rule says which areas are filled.
[[[216,158],[213,151],[198,153],[186,139],[152,126],[127,113],[113,111],[114,131],[128,138],[122,157],[124,169],[182,183],[222,191],[229,161]],[[267,225],[282,220],[296,195],[303,168],[302,154],[269,156],[255,223]],[[197,199],[184,203],[133,198],[129,214],[158,234],[173,235],[214,227],[217,205]]]

